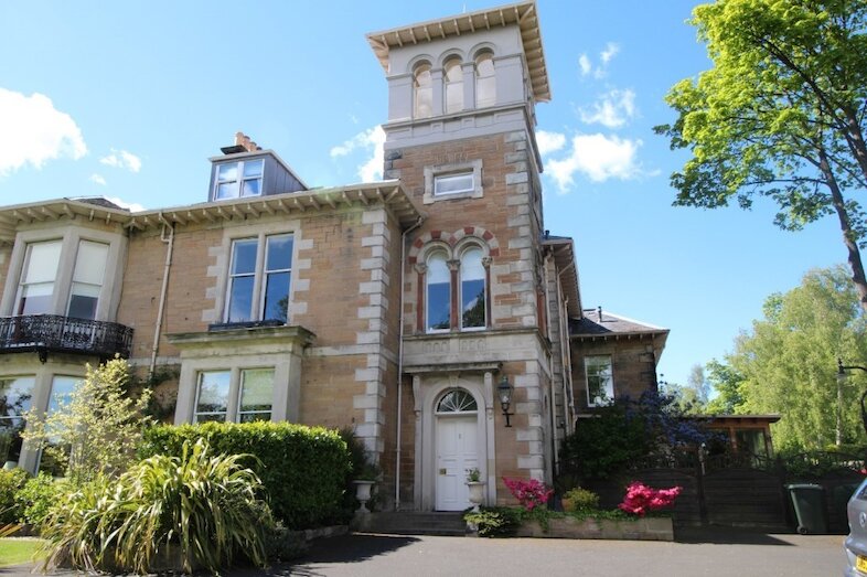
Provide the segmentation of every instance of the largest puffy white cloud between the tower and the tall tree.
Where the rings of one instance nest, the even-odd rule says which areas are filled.
[[[631,180],[643,175],[638,161],[638,151],[642,146],[639,139],[621,139],[601,133],[578,135],[572,138],[571,145],[567,158],[545,163],[546,172],[552,175],[560,193],[569,191],[576,173],[593,182]]]

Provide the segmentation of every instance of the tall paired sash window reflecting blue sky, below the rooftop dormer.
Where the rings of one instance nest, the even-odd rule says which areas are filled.
[[[225,322],[287,322],[292,247],[291,234],[232,242]]]

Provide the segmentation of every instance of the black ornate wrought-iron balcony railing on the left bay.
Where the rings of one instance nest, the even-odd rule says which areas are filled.
[[[60,314],[0,318],[0,352],[36,351],[129,359],[132,329],[116,322],[73,319]]]

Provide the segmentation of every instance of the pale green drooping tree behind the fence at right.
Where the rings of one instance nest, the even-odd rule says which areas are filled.
[[[812,270],[799,287],[769,297],[764,318],[737,339],[719,370],[738,413],[782,415],[773,430],[779,448],[865,441],[858,399],[867,380],[853,375],[842,403],[837,396],[837,357],[867,359],[865,313],[847,277],[843,266]]]

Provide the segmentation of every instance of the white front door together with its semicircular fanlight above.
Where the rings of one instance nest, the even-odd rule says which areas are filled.
[[[464,388],[447,391],[435,405],[436,509],[463,511],[470,506],[467,472],[480,468],[479,405]]]

